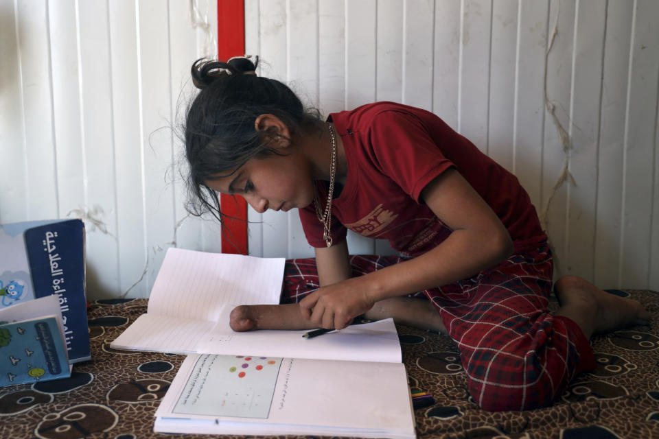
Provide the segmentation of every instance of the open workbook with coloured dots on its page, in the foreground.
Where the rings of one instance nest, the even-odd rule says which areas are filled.
[[[213,354],[183,361],[154,431],[415,438],[403,364]]]

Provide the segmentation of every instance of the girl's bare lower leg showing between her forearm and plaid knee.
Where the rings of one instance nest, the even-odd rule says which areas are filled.
[[[393,321],[409,327],[431,329],[447,334],[441,316],[430,300],[412,297],[393,297],[375,302],[364,315],[369,320],[393,318]]]

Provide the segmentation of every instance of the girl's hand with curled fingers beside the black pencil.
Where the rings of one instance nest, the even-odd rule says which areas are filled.
[[[369,311],[375,300],[364,288],[357,288],[358,278],[316,289],[302,300],[300,309],[305,318],[325,329],[343,329],[352,319]]]

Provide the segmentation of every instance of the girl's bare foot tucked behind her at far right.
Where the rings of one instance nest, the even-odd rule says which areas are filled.
[[[555,315],[574,320],[586,338],[649,323],[650,314],[636,300],[609,294],[577,276],[560,278],[554,292],[561,304]]]

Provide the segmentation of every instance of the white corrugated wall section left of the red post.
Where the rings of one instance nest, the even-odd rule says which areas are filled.
[[[90,298],[146,297],[164,250],[219,250],[172,165],[216,2],[0,0],[0,222],[82,217]]]

